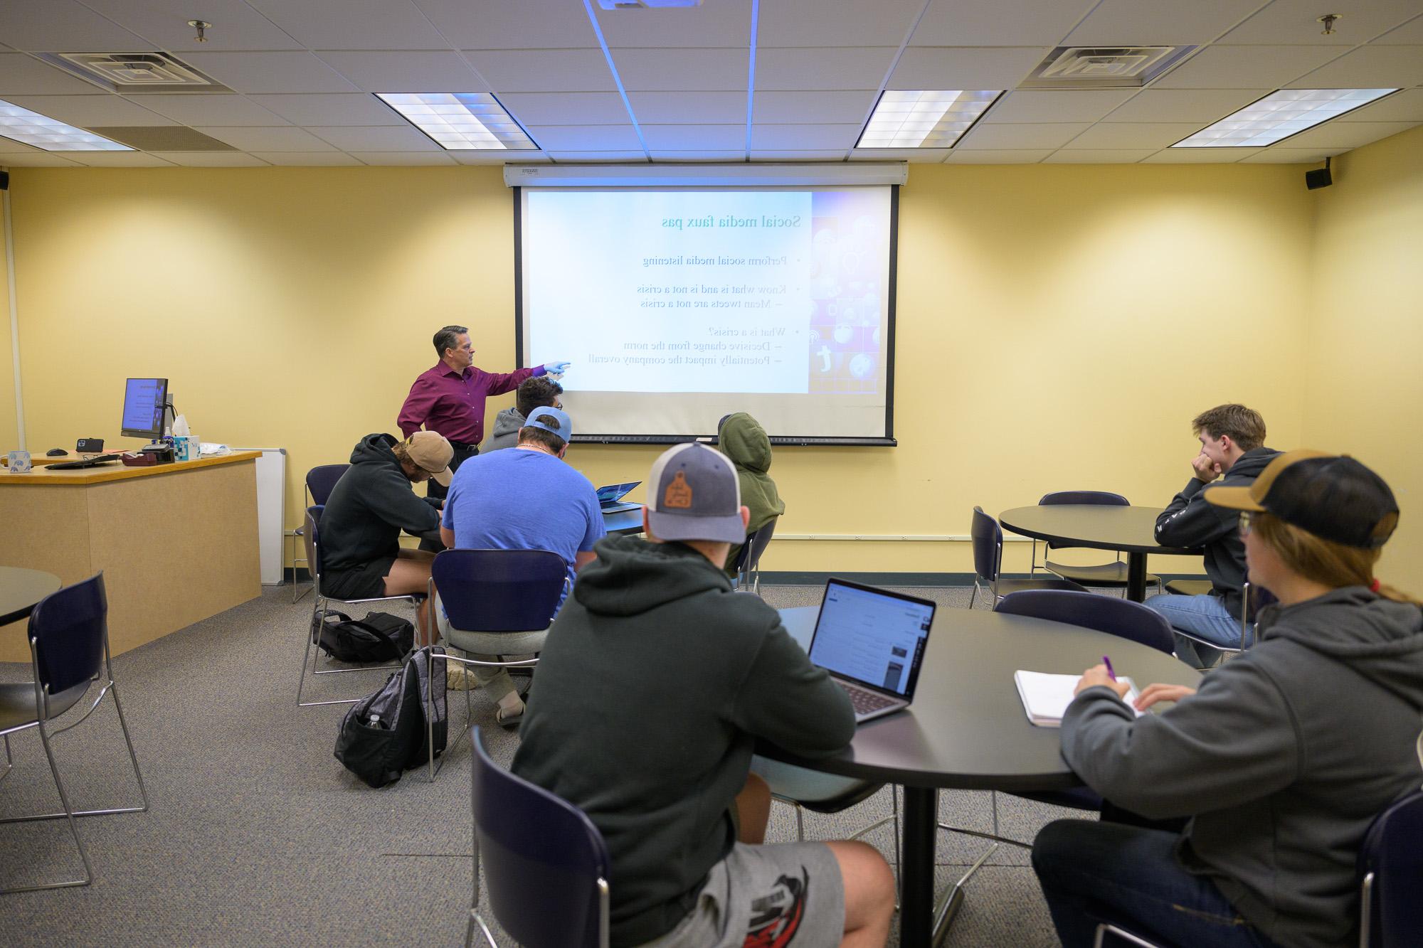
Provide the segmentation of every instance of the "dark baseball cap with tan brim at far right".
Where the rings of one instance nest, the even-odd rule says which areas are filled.
[[[1376,549],[1399,524],[1383,478],[1348,454],[1286,451],[1249,487],[1207,487],[1217,507],[1264,512],[1345,547]]]

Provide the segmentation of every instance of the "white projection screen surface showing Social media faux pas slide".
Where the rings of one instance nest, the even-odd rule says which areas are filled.
[[[524,363],[581,431],[884,437],[889,188],[525,189]]]

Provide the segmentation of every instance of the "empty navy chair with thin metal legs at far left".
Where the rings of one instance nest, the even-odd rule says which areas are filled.
[[[0,823],[27,823],[33,820],[68,820],[74,844],[84,861],[84,875],[58,883],[17,885],[0,890],[0,894],[31,892],[44,888],[88,885],[94,880],[88,851],[80,838],[75,817],[105,816],[110,813],[144,813],[148,810],[148,790],[144,774],[138,770],[138,756],[128,736],[128,722],[124,720],[124,705],[118,700],[118,685],[114,683],[114,666],[108,655],[108,598],[104,594],[104,575],[91,576],[73,586],[65,586],[40,601],[30,612],[30,666],[33,682],[0,685],[0,734],[4,736],[6,776],[10,773],[10,734],[34,727],[40,732],[44,756],[50,760],[54,789],[60,791],[63,813],[41,813],[37,816],[7,817]],[[88,709],[63,727],[50,730],[51,725],[65,712],[84,702],[94,682],[101,682],[98,695]],[[114,710],[118,712],[118,726],[128,744],[128,759],[134,764],[134,779],[142,806],[110,807],[104,810],[75,810],[70,794],[60,779],[60,767],[54,760],[50,739],[84,722],[105,695],[114,696]],[[20,860],[16,860],[18,863]]]

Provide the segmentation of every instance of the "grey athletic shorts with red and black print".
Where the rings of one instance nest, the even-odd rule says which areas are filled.
[[[824,843],[737,843],[692,914],[642,948],[822,948],[845,932],[845,884]]]

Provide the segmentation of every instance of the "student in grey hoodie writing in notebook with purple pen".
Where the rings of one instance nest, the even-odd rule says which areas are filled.
[[[1237,517],[1249,579],[1278,604],[1198,692],[1146,688],[1138,709],[1175,702],[1161,715],[1136,717],[1106,666],[1083,673],[1063,757],[1114,804],[1188,821],[1037,834],[1067,948],[1090,945],[1099,920],[1161,945],[1356,944],[1360,841],[1423,781],[1423,611],[1373,576],[1399,518],[1387,484],[1353,458],[1291,451],[1205,498]]]

